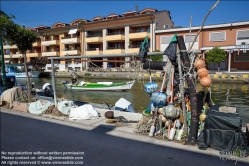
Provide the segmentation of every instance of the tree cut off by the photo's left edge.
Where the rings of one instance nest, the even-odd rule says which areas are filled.
[[[15,24],[12,19],[15,18],[13,15],[8,16],[2,10],[0,10],[0,54],[1,54],[1,68],[3,76],[3,91],[7,89],[6,84],[6,72],[5,72],[5,61],[3,52],[3,41],[8,40],[8,32],[15,31]]]

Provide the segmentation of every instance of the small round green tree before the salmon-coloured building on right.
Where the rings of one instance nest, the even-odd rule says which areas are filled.
[[[206,61],[208,63],[219,63],[218,71],[220,71],[220,62],[224,61],[225,58],[225,50],[220,49],[219,47],[213,47],[210,51],[207,52]]]

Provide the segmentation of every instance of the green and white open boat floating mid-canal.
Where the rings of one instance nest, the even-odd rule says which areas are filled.
[[[81,81],[78,84],[71,84],[67,81],[63,81],[63,85],[68,89],[73,90],[91,90],[91,91],[128,91],[132,88],[135,81],[128,81],[128,82],[120,82],[120,83],[113,83],[113,82],[84,82]]]

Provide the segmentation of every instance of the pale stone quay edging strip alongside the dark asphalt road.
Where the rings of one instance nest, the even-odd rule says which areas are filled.
[[[52,122],[52,123],[57,123],[61,125],[66,125],[66,126],[71,126],[71,127],[76,127],[76,128],[81,128],[85,130],[94,130],[97,127],[111,127],[115,126],[115,124],[110,124],[106,123],[106,118],[105,118],[105,112],[109,111],[107,109],[98,109],[96,108],[97,112],[100,114],[100,118],[98,119],[92,119],[92,120],[69,120],[66,117],[57,117],[53,116],[51,114],[42,114],[42,115],[34,115],[31,113],[26,113],[22,111],[15,111],[12,109],[6,109],[3,107],[0,107],[2,113],[8,113],[8,114],[13,114],[17,116],[23,116],[27,118],[33,118],[37,120],[42,120],[42,121],[47,121],[47,122]],[[129,113],[129,112],[120,112],[120,111],[114,111],[114,117],[118,116],[123,116],[129,121],[139,121],[142,117],[142,114],[140,113]],[[136,140],[136,141],[141,141],[145,143],[151,143],[154,145],[159,145],[159,146],[166,146],[166,147],[171,147],[179,150],[187,150],[190,152],[195,152],[195,153],[202,153],[206,155],[212,155],[216,156],[218,158],[221,157],[220,153],[218,150],[214,150],[211,148],[208,148],[207,150],[200,150],[197,145],[191,146],[191,145],[183,145],[182,143],[177,143],[174,141],[166,141],[166,140],[161,140],[153,137],[149,137],[146,135],[140,135],[140,134],[134,134],[134,130],[136,129],[137,123],[129,123],[128,126],[120,126],[117,127],[115,126],[114,129],[109,131],[107,134],[115,137],[122,137],[125,139],[131,139],[131,140]],[[246,158],[228,158],[227,160],[231,159],[236,159],[236,161],[242,161],[249,163],[249,157]]]

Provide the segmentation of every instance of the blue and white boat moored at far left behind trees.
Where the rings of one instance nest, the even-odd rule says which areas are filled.
[[[23,64],[6,64],[5,71],[6,76],[15,76],[16,78],[27,78],[25,71],[23,70]],[[30,70],[28,71],[29,77],[38,78],[42,71]]]

